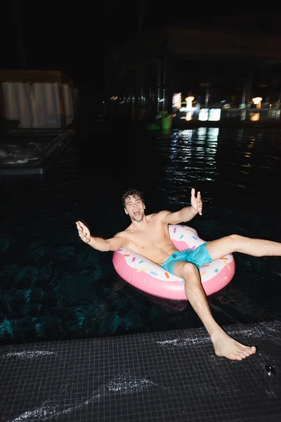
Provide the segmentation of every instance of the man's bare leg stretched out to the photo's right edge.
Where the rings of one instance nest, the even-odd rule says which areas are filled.
[[[238,234],[211,241],[206,246],[212,260],[217,260],[232,252],[242,252],[254,257],[281,256],[281,243],[247,238]]]

